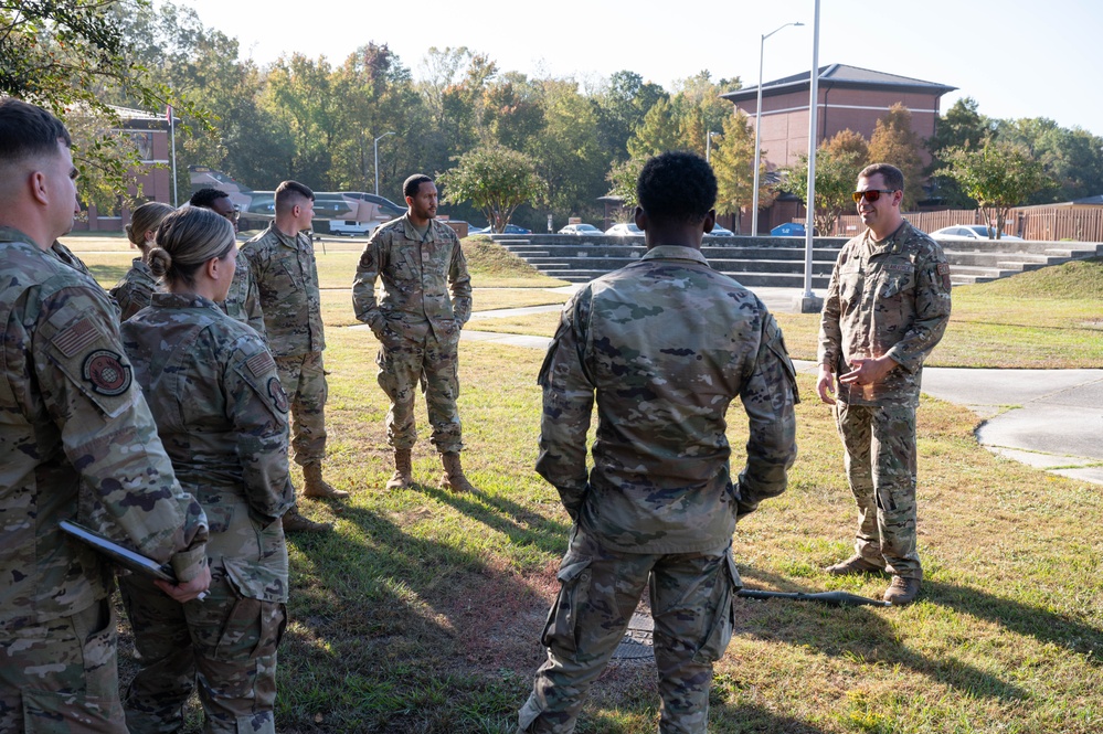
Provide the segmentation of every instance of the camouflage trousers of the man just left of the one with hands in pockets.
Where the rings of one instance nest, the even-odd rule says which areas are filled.
[[[291,415],[291,448],[299,466],[326,458],[326,398],[329,386],[321,352],[276,358],[279,384]]]

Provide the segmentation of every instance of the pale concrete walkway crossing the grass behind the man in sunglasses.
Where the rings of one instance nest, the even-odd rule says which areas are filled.
[[[572,291],[574,286],[562,289]],[[755,288],[776,312],[793,311],[799,288]],[[821,294],[817,294],[821,295]],[[478,311],[463,332],[471,341],[547,349],[547,337],[478,331],[478,319],[559,311],[560,306]],[[797,362],[815,372],[812,362]],[[925,368],[923,392],[965,405],[984,422],[977,440],[988,450],[1065,477],[1103,485],[1103,370],[971,370]]]

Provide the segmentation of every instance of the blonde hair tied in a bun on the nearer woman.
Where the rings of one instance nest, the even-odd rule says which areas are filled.
[[[167,284],[195,285],[195,273],[212,257],[223,259],[237,246],[234,225],[202,206],[185,206],[166,216],[149,251],[149,269]]]

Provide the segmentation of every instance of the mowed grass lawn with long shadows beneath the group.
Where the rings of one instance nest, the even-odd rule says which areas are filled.
[[[543,658],[539,636],[569,532],[555,490],[532,471],[543,354],[462,342],[464,462],[478,492],[437,489],[441,469],[424,430],[414,451],[418,483],[384,490],[391,465],[388,405],[374,379],[378,344],[369,331],[346,328],[354,323],[348,284],[356,255],[349,249],[339,260],[339,252],[318,257],[324,283],[335,284],[322,301],[331,373],[327,478],[352,497],[304,500],[303,511],[335,522],[335,531],[289,539],[277,728],[512,732]],[[94,264],[91,253],[85,259]],[[474,275],[477,259],[476,308],[491,292],[517,305],[563,298],[544,290],[554,281],[534,279],[516,264],[497,266],[482,281]],[[114,283],[104,273],[96,272]],[[490,283],[511,290],[492,291]],[[516,287],[526,283],[532,287]],[[935,357],[958,366],[987,366],[996,358],[1007,366],[1036,359],[1046,366],[1100,366],[1090,344],[1081,353],[1057,336],[1072,323],[1097,333],[1083,323],[1103,313],[1101,285],[1100,264],[1088,263],[956,289],[947,349]],[[974,319],[964,319],[967,313]],[[551,333],[555,313],[532,318]],[[813,327],[786,318],[779,315],[791,350],[807,358],[802,350],[814,349]],[[1046,350],[1044,360],[1010,337],[1000,354],[1005,337],[997,323],[1033,334],[1022,343]],[[978,336],[957,334],[969,329]],[[991,348],[979,338],[985,333]],[[952,351],[956,339],[975,345]],[[885,579],[820,571],[849,554],[855,510],[830,412],[815,398],[810,376],[800,376],[800,454],[789,489],[740,523],[740,572],[754,588],[879,596]],[[423,405],[418,398],[421,427]],[[745,443],[738,404],[730,418],[738,468]],[[735,636],[715,668],[710,732],[1103,731],[1103,488],[993,456],[976,444],[977,422],[963,407],[926,397],[920,408],[919,542],[926,578],[919,602],[839,609],[739,600]],[[297,468],[294,476],[298,482]],[[654,732],[657,709],[650,663],[617,662],[594,685],[577,731]],[[193,706],[189,731],[200,731],[197,722]]]

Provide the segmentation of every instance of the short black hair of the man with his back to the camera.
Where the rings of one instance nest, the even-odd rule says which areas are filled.
[[[717,203],[717,175],[697,153],[665,152],[644,163],[636,198],[649,219],[696,224]]]

